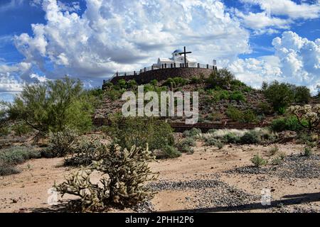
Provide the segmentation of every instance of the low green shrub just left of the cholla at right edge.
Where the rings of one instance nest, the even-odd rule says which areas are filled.
[[[299,124],[295,116],[274,119],[271,123],[273,131],[302,131],[304,128]]]

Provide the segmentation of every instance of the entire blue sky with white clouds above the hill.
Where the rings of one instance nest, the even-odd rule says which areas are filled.
[[[0,100],[27,83],[100,87],[187,47],[252,87],[320,86],[320,0],[0,0]]]

